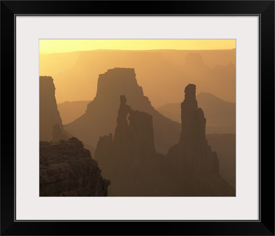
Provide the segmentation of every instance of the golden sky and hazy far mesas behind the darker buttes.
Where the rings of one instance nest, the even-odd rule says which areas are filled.
[[[235,102],[235,40],[84,41],[87,43],[82,45],[83,40],[40,40],[44,53],[39,56],[39,75],[54,79],[57,103],[93,100],[99,74],[116,67],[135,69],[138,84],[153,107],[182,101],[180,88],[188,83],[197,84],[197,93],[210,92]],[[218,49],[226,47],[229,49]],[[47,54],[47,48],[52,53]],[[199,53],[201,58],[191,58],[192,65],[187,65],[188,53]],[[230,63],[234,68],[229,68]],[[232,92],[224,93],[224,89]]]

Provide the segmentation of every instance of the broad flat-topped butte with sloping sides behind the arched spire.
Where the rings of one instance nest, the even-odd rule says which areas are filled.
[[[106,73],[100,74],[96,96],[87,105],[86,113],[72,123],[64,125],[64,128],[83,142],[95,147],[100,136],[114,134],[117,125],[115,121],[119,107],[118,98],[121,94],[127,97],[133,110],[153,116],[155,148],[158,152],[166,154],[179,140],[180,124],[162,116],[152,107],[148,97],[143,95],[132,68],[108,69]]]

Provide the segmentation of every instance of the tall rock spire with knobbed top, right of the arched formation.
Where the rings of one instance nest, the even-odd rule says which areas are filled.
[[[181,158],[185,168],[201,175],[219,175],[219,159],[205,139],[206,119],[198,108],[196,85],[188,84],[181,103],[181,135],[178,144],[169,149],[168,157]]]

